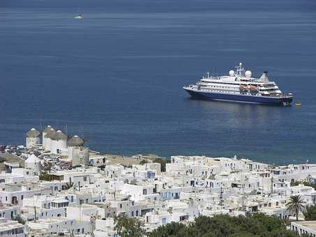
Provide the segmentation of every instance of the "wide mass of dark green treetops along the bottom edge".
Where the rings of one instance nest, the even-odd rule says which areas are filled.
[[[249,217],[231,217],[216,215],[215,217],[197,217],[195,222],[184,225],[172,222],[158,227],[150,237],[297,237],[293,231],[286,229],[286,222],[278,217],[269,217],[255,213]]]

